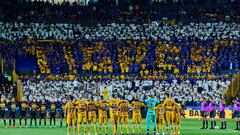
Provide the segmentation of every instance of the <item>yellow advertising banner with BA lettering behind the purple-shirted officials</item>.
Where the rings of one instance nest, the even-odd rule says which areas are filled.
[[[185,110],[186,118],[201,118],[200,110]],[[232,118],[232,111],[225,110],[225,117]],[[216,114],[216,118],[219,118],[219,113]]]

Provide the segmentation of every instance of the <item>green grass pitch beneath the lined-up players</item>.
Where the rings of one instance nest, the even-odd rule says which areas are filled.
[[[7,121],[8,122],[8,121]],[[17,120],[18,122],[18,120]],[[0,121],[0,135],[66,135],[66,128],[59,128],[59,121],[57,122],[57,128],[5,128],[3,126],[3,121]],[[8,124],[8,123],[7,123]],[[29,124],[29,121],[28,121]],[[49,121],[48,123],[49,124]],[[220,126],[220,121],[217,121],[217,126]],[[109,123],[109,135],[112,134],[112,128]],[[131,125],[131,124],[130,124]],[[226,130],[201,130],[201,121],[199,119],[183,119],[181,123],[181,135],[240,135],[240,131],[235,131],[235,122],[233,119],[227,120],[227,129]],[[18,126],[18,123],[17,123]],[[142,123],[142,133],[145,133],[146,123],[143,121]],[[131,130],[131,126],[130,126]],[[119,130],[118,130],[119,131]],[[83,134],[83,133],[81,133]],[[92,131],[92,135],[94,132]]]

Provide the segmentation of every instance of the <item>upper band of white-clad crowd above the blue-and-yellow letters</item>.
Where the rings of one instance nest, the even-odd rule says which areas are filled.
[[[190,23],[189,25],[160,26],[152,24],[98,24],[95,27],[81,24],[59,23],[0,23],[0,38],[3,40],[57,39],[57,40],[143,40],[187,39],[207,40],[238,39],[240,25],[236,23]]]

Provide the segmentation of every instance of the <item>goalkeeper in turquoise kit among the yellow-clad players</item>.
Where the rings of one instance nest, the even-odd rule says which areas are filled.
[[[146,99],[145,101],[146,107],[148,108],[147,110],[147,126],[146,126],[146,133],[149,135],[149,125],[150,122],[153,121],[153,126],[154,126],[154,134],[156,134],[156,128],[157,128],[157,121],[156,121],[156,106],[159,104],[159,101],[154,98],[153,94],[150,94],[149,98]]]

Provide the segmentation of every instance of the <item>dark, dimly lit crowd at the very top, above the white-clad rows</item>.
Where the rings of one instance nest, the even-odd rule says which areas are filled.
[[[239,20],[239,1],[208,0],[77,0],[3,2],[1,17],[6,20],[50,22],[149,22],[153,20]],[[222,2],[222,3],[221,3]],[[191,6],[189,6],[191,5]]]

